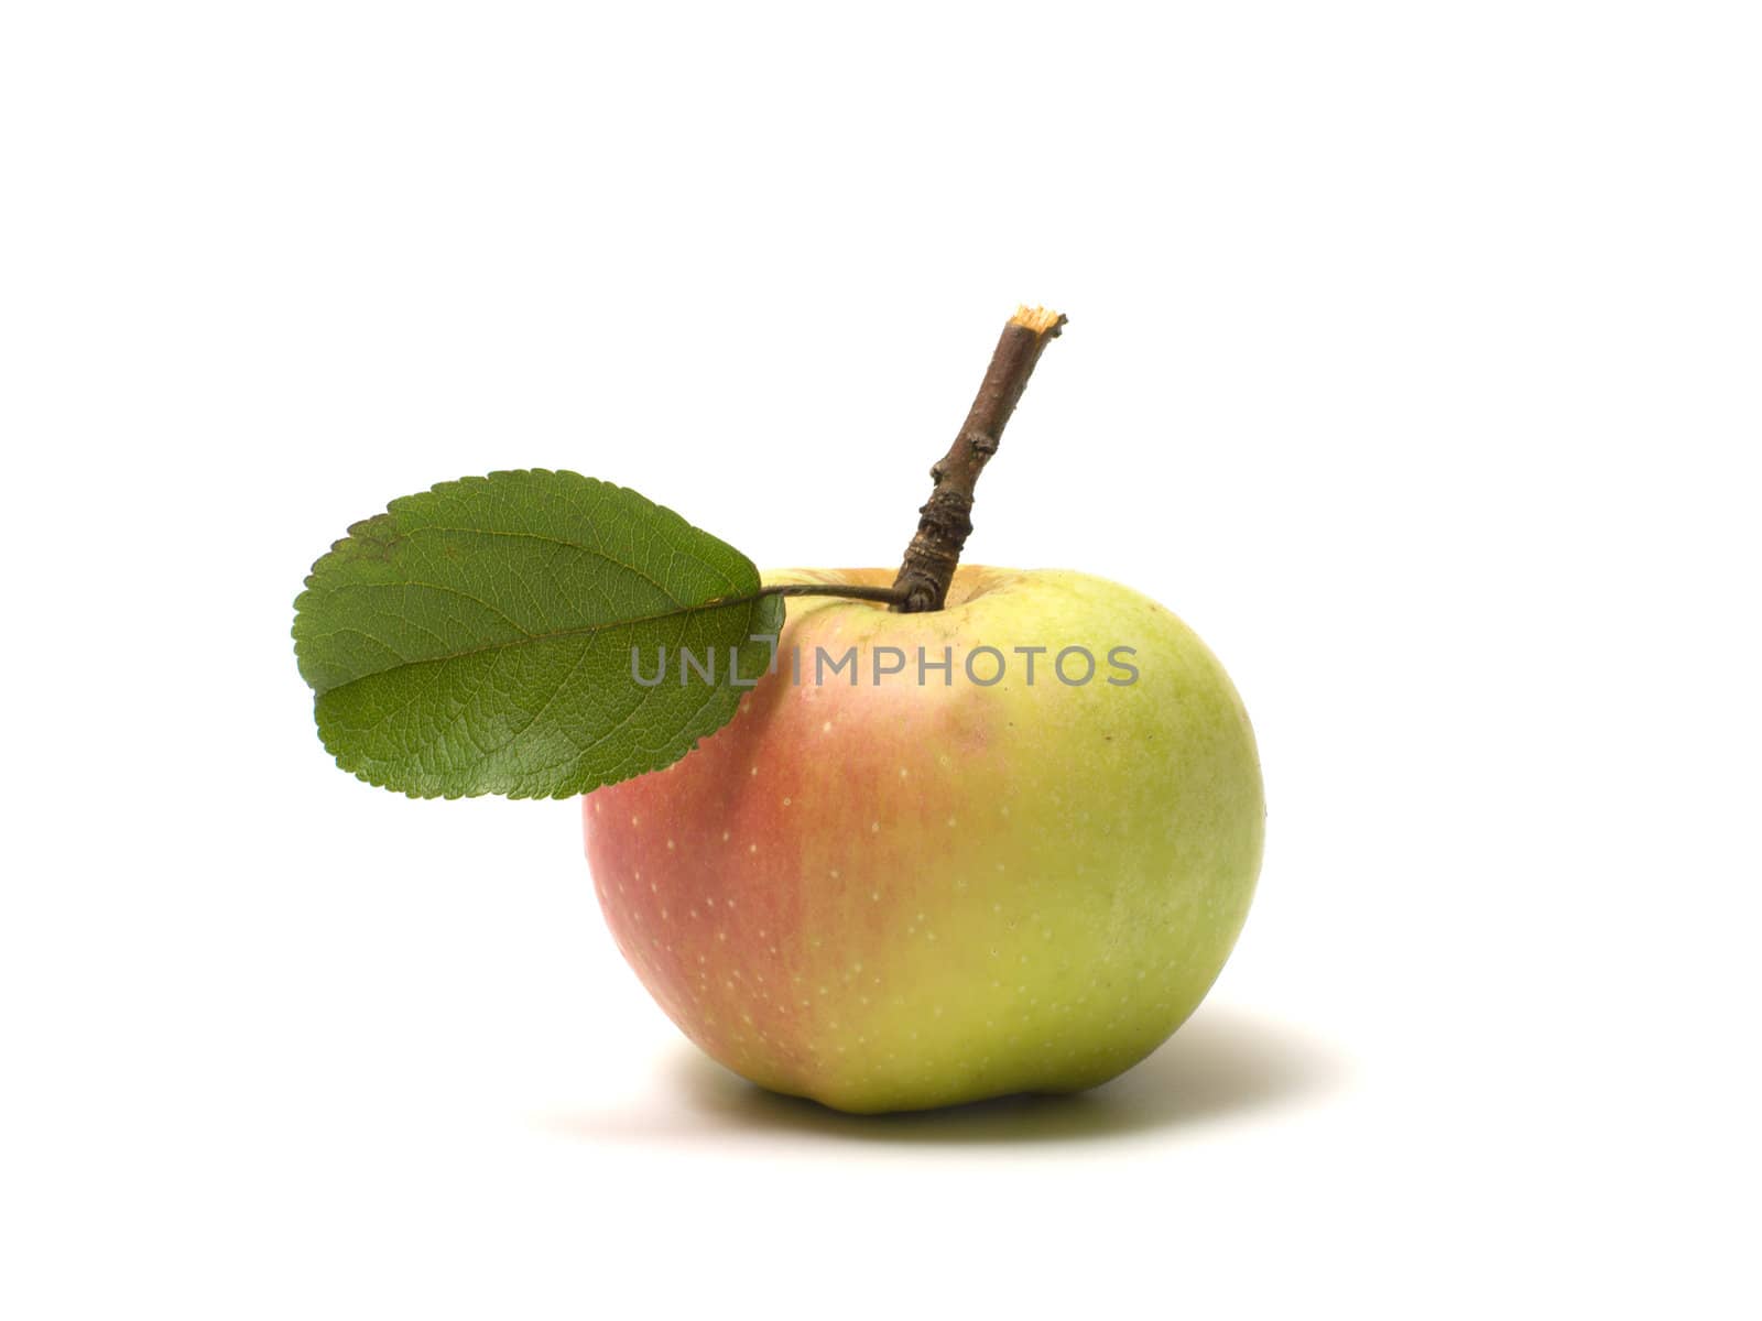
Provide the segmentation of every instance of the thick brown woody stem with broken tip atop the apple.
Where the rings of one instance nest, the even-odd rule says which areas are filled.
[[[914,615],[941,609],[955,579],[960,551],[973,534],[973,488],[987,460],[997,453],[1003,428],[1015,412],[1027,379],[1048,340],[1055,340],[1066,317],[1043,306],[1018,306],[1003,328],[985,380],[967,410],[955,444],[930,469],[936,488],[918,509],[918,532],[906,548],[906,562],[893,579],[899,599],[893,609]]]

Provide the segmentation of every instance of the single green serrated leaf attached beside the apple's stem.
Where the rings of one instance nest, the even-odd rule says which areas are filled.
[[[368,784],[566,798],[733,719],[782,625],[758,590],[747,557],[636,491],[492,472],[351,527],[294,602],[294,653],[319,738]],[[645,680],[664,648],[659,683],[636,682],[633,648]]]

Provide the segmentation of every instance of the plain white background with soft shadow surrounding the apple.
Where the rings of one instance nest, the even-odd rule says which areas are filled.
[[[1755,1316],[1762,42],[1707,4],[9,5],[0,1310]],[[571,467],[1230,666],[1210,1000],[1085,1099],[703,1062],[573,803],[329,766],[389,497]]]

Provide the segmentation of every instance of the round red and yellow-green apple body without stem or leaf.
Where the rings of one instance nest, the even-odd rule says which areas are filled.
[[[1066,571],[964,565],[948,602],[791,599],[777,668],[724,729],[581,800],[606,921],[661,1007],[735,1073],[837,1110],[1114,1078],[1198,1006],[1260,872],[1247,713],[1179,618]],[[816,683],[816,648],[849,646],[855,685]],[[876,682],[877,646],[906,671]],[[946,682],[918,683],[920,646],[951,648]],[[964,669],[981,646],[1004,659],[990,687]],[[1047,648],[1033,683],[1018,646]],[[1054,673],[1066,646],[1094,655],[1087,683]]]

